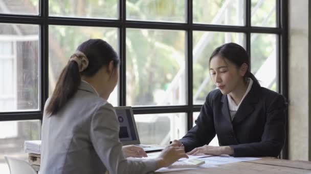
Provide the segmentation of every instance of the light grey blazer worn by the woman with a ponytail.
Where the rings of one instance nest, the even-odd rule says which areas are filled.
[[[49,103],[47,100],[46,106]],[[55,115],[43,113],[40,174],[148,173],[155,160],[129,160],[122,153],[119,122],[111,104],[81,82]]]

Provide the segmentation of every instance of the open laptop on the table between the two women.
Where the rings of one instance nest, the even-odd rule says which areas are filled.
[[[118,106],[115,109],[120,123],[119,139],[123,145],[135,144],[142,147],[146,153],[158,152],[164,149],[163,147],[140,143],[132,107]]]

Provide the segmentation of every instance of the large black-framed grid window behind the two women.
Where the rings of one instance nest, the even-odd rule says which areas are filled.
[[[3,155],[27,160],[24,140],[39,139],[41,125],[40,115],[34,121],[25,121],[24,115],[41,112],[42,98],[53,93],[72,53],[91,38],[103,39],[118,53],[126,54],[121,57],[125,72],[120,74],[126,78],[119,81],[108,102],[114,106],[119,103],[141,106],[150,111],[135,115],[142,143],[168,145],[170,140],[187,133],[191,115],[187,113],[204,104],[208,93],[216,89],[209,74],[209,59],[212,51],[224,43],[234,42],[246,48],[246,40],[250,41],[251,72],[261,86],[277,91],[281,71],[278,65],[284,58],[278,55],[283,44],[279,39],[284,33],[277,21],[283,18],[279,16],[283,14],[281,9],[288,4],[280,2],[0,0],[0,21],[9,22],[0,23],[0,120],[7,115],[14,120],[0,122],[0,173],[10,172]],[[48,14],[42,13],[45,3]],[[189,10],[192,19],[188,19]],[[18,18],[22,15],[28,17]],[[94,23],[95,20],[101,22]],[[188,25],[187,21],[192,22]],[[246,23],[252,27],[246,27]],[[41,38],[41,32],[48,32],[48,39]],[[192,40],[187,39],[187,34]],[[284,42],[286,45],[287,41]],[[193,46],[191,60],[188,60],[189,43]],[[49,57],[41,56],[47,51]],[[48,86],[41,86],[42,82]],[[43,89],[49,91],[43,94]],[[124,89],[121,96],[119,89]],[[191,96],[188,90],[192,90]],[[171,106],[181,113],[162,112]],[[191,115],[193,126],[198,115],[199,112]],[[209,145],[218,146],[217,136]]]

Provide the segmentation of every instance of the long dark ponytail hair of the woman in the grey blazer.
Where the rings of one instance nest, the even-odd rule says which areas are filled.
[[[115,68],[120,62],[113,47],[101,39],[87,40],[79,45],[77,50],[85,54],[88,66],[79,72],[77,62],[69,61],[67,63],[57,80],[55,90],[46,108],[46,112],[51,113],[51,115],[57,113],[74,96],[81,83],[81,75],[93,76],[100,68],[108,65],[110,61],[113,61]]]

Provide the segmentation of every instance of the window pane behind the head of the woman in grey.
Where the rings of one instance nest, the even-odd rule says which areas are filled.
[[[49,95],[78,45],[88,39],[103,39],[118,51],[118,29],[109,27],[49,25]],[[108,101],[118,105],[118,86]]]

